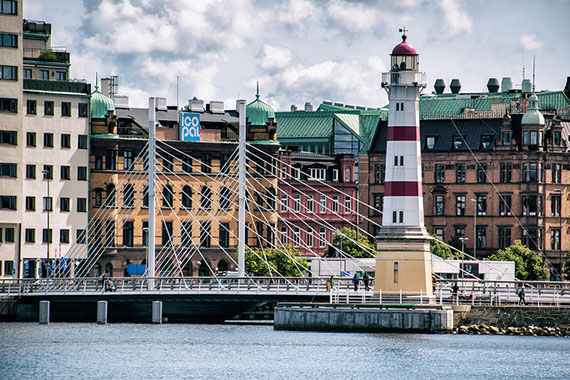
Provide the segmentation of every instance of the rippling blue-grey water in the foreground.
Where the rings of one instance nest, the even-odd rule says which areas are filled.
[[[570,339],[0,323],[0,379],[570,379]]]

